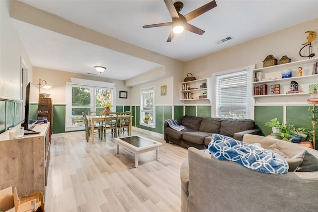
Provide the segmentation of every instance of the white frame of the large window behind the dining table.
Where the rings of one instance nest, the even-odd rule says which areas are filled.
[[[72,88],[73,87],[87,87],[91,90],[90,96],[90,111],[95,111],[95,91],[96,88],[105,88],[112,90],[111,102],[114,108],[116,108],[116,87],[115,83],[94,81],[87,79],[71,78],[71,82],[66,82],[66,111],[65,111],[65,132],[85,130],[85,125],[82,126],[72,126]],[[87,115],[87,114],[86,114]],[[80,115],[76,116],[80,117]]]

